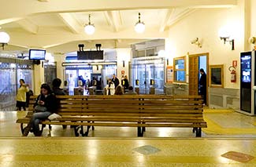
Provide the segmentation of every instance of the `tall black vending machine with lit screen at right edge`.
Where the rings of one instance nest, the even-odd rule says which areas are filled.
[[[255,51],[240,53],[240,111],[255,115]]]

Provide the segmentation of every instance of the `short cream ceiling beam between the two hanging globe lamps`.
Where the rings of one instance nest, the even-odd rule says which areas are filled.
[[[113,28],[113,32],[119,31],[120,25],[123,24],[120,11],[106,11],[104,15],[107,24]]]

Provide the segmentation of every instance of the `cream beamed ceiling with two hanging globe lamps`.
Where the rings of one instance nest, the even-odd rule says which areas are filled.
[[[128,47],[136,42],[168,38],[169,27],[198,9],[230,8],[237,3],[236,0],[44,1],[2,2],[0,26],[11,37],[9,45],[24,49],[44,48],[58,53],[75,51],[79,43],[88,47],[102,43],[103,49]],[[143,34],[134,31],[138,13],[146,24]],[[89,14],[96,29],[93,35],[83,31]]]

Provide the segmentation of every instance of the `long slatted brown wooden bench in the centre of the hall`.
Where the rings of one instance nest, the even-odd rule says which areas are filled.
[[[32,96],[27,116],[17,120],[21,133],[24,132],[24,124],[28,124],[32,116],[35,97]],[[201,96],[95,95],[57,98],[60,101],[57,113],[61,114],[62,118],[40,123],[72,125],[75,127],[76,136],[87,136],[89,129],[92,127],[94,130],[94,126],[136,127],[138,136],[143,136],[146,127],[191,128],[195,136],[201,136],[201,128],[206,128],[206,122],[202,118]]]

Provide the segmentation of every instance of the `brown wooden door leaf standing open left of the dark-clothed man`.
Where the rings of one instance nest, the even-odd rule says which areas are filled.
[[[189,56],[189,95],[198,95],[198,56]]]

